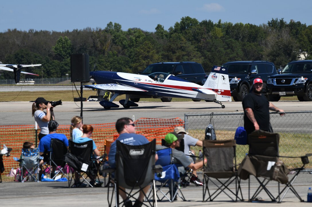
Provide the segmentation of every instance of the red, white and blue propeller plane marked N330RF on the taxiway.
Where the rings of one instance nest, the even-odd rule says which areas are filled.
[[[204,85],[186,81],[174,75],[163,72],[138,75],[112,71],[92,71],[91,78],[95,85],[83,85],[85,88],[107,90],[115,93],[109,101],[100,101],[105,109],[118,108],[113,103],[118,95],[126,94],[126,99],[119,103],[124,108],[135,107],[138,104],[129,100],[130,95],[149,95],[152,97],[202,99],[221,104],[232,101],[227,68],[214,66]]]

